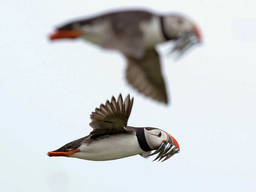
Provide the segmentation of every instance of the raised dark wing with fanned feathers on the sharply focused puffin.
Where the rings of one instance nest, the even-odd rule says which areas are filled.
[[[90,126],[93,128],[90,137],[130,132],[129,129],[124,127],[127,125],[132,103],[133,98],[130,99],[130,95],[127,95],[123,102],[120,94],[117,101],[112,97],[111,102],[107,100],[105,105],[101,104],[99,108],[96,108],[90,116]]]

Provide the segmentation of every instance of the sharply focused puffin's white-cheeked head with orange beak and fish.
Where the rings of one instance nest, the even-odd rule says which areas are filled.
[[[145,127],[144,133],[148,146],[153,150],[156,150],[153,154],[147,155],[145,157],[159,153],[157,158],[155,158],[153,161],[157,160],[158,158],[160,158],[158,160],[160,161],[164,157],[165,159],[163,159],[163,161],[165,161],[172,157],[174,154],[180,152],[180,146],[178,142],[169,133],[162,131],[161,129],[151,127]]]

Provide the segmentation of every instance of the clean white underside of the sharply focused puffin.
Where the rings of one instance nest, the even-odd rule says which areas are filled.
[[[135,134],[109,135],[89,144],[82,144],[80,152],[69,155],[91,161],[108,161],[144,153]]]

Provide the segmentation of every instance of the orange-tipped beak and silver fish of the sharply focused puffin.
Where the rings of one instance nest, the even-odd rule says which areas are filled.
[[[176,141],[176,139],[174,139],[169,133],[166,132],[167,140],[163,140],[163,142],[161,143],[161,145],[158,147],[157,150],[155,150],[154,153],[150,154],[150,155],[146,155],[144,157],[149,157],[151,155],[155,155],[158,154],[157,157],[153,160],[157,160],[160,161],[161,159],[163,159],[163,161],[171,158],[174,154],[179,153],[180,152],[180,146],[178,144],[178,142]],[[161,162],[163,162],[161,161]]]

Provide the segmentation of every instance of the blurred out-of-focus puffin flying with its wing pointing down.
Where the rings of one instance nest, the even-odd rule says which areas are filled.
[[[126,79],[140,93],[168,103],[161,60],[155,46],[172,41],[170,53],[180,57],[201,42],[196,24],[179,14],[144,10],[108,12],[58,27],[50,39],[82,38],[105,49],[121,52],[127,60]]]

